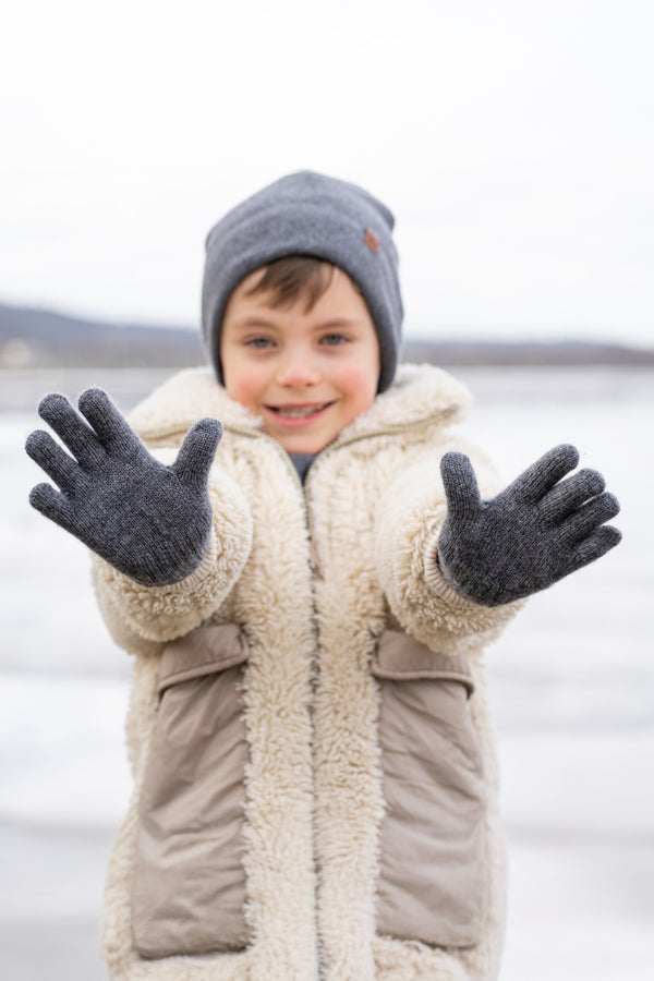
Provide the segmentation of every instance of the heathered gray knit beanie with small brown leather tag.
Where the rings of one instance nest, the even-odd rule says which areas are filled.
[[[378,390],[388,388],[403,314],[393,223],[367,191],[307,170],[281,178],[221,218],[207,235],[202,294],[203,336],[219,382],[220,328],[232,290],[275,259],[311,255],[339,266],[360,288],[379,339]]]

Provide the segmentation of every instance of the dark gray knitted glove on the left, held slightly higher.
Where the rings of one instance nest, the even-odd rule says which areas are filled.
[[[61,493],[38,484],[29,502],[142,585],[179,582],[208,548],[213,514],[207,479],[220,423],[195,423],[174,463],[165,467],[101,389],[83,392],[78,404],[93,428],[61,395],[48,395],[39,404],[39,415],[75,459],[48,433],[32,433],[25,449]]]

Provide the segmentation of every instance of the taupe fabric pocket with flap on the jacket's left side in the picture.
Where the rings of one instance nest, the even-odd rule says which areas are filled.
[[[241,703],[245,639],[198,627],[168,644],[140,796],[132,891],[142,957],[242,949],[249,752]]]

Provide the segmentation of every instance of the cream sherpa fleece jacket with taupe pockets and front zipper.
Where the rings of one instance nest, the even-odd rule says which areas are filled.
[[[128,718],[134,796],[106,893],[104,947],[116,981],[497,977],[504,851],[482,651],[517,605],[487,609],[461,600],[436,564],[445,512],[440,457],[450,449],[469,453],[482,493],[497,489],[486,459],[452,428],[469,401],[445,372],[403,366],[392,388],[318,455],[304,488],[286,452],[209,368],[174,376],[133,413],[136,431],[166,461],[198,417],[219,419],[225,435],[210,479],[215,534],[192,576],[146,589],[99,559],[94,565],[107,625],[135,655]],[[235,646],[214,655],[211,638],[223,628]],[[399,642],[398,654],[384,653],[386,638],[391,647]],[[413,653],[402,653],[405,641]],[[214,717],[218,689],[203,693],[225,666],[231,693],[222,735]],[[432,694],[445,714],[425,722]],[[470,722],[468,748],[450,707]],[[203,753],[213,747],[204,770],[187,759],[201,743]],[[420,780],[415,789],[405,776],[416,773],[419,743],[426,770],[432,756],[451,768],[443,783],[451,779],[445,790],[453,796],[443,813],[455,845],[448,831],[445,850],[435,859],[425,855],[425,862],[434,861],[438,879],[443,853],[452,883],[467,864],[460,916],[447,895],[435,908],[428,875],[422,900],[411,894],[421,843],[429,850],[433,841],[419,812],[428,821],[431,801],[434,813],[443,803],[436,788],[423,808]],[[233,807],[211,783],[223,749],[233,751],[228,771],[239,759],[242,764],[230,790]],[[186,753],[183,763],[171,763],[178,752]],[[179,799],[166,786],[153,790],[152,772],[166,766]],[[470,825],[458,837],[459,820]],[[220,867],[229,882],[218,899],[210,870],[220,846],[211,844],[211,821],[231,828],[238,857],[235,865]],[[194,859],[207,841],[209,850]],[[459,846],[472,848],[461,862]],[[169,864],[178,860],[179,879],[173,875],[172,895],[164,898]],[[140,876],[150,873],[144,901]],[[446,893],[449,881],[448,872]],[[197,911],[195,899],[202,906],[205,895]],[[474,916],[465,922],[469,900]],[[235,919],[221,938],[215,924],[222,922],[223,901]]]

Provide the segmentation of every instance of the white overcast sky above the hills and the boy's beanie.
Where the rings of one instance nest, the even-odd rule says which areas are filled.
[[[0,302],[195,324],[312,168],[396,214],[412,336],[654,344],[652,0],[5,0]]]

